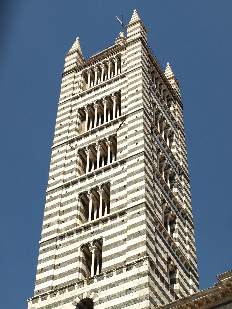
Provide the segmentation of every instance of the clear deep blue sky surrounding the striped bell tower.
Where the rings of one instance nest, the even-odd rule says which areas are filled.
[[[33,296],[67,53],[111,44],[134,9],[181,84],[200,289],[232,269],[231,0],[4,1],[1,7],[2,308]]]

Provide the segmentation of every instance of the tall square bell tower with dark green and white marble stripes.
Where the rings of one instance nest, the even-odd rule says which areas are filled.
[[[136,11],[126,28],[88,61],[78,38],[66,55],[28,308],[145,309],[199,290],[180,85]]]

